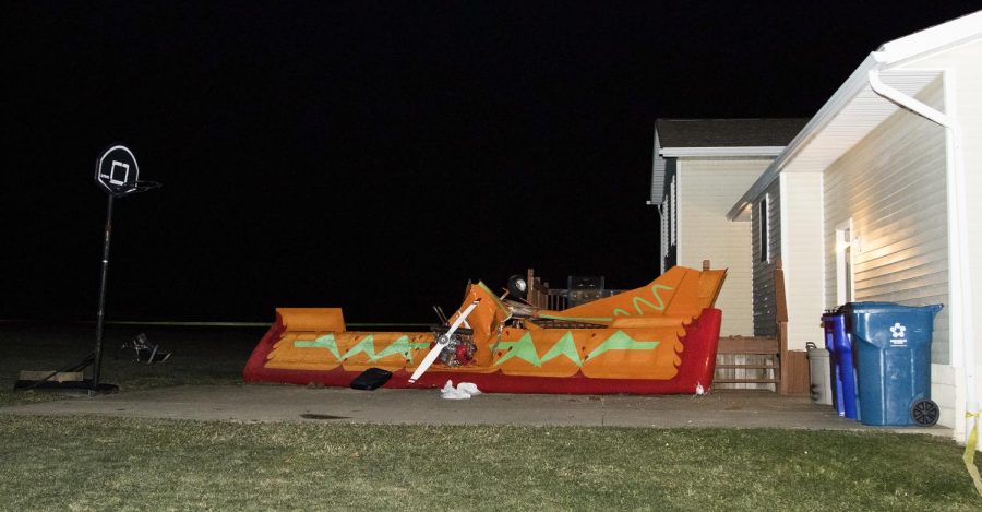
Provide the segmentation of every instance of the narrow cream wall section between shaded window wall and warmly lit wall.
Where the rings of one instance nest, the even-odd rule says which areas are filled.
[[[813,290],[823,286],[821,172],[783,172],[781,189],[781,250],[788,294],[788,348],[804,350],[807,342],[823,344],[819,326],[824,300]]]

